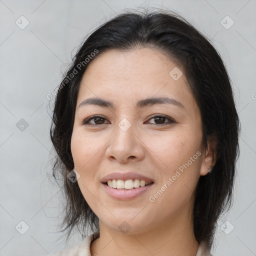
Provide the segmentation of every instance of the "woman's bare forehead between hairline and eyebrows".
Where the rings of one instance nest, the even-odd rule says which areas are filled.
[[[154,48],[108,50],[92,59],[83,74],[77,103],[95,95],[120,102],[154,95],[177,98],[184,104],[193,101],[182,66]]]

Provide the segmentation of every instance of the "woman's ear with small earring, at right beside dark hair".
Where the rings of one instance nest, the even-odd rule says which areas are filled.
[[[205,148],[203,153],[202,164],[200,168],[200,175],[206,175],[209,169],[212,169],[216,163],[217,153],[216,153],[216,139],[214,137],[209,137],[207,140],[207,148]]]

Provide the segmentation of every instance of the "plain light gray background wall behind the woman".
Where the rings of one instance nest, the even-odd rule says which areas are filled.
[[[48,178],[52,100],[46,95],[87,33],[139,5],[184,16],[211,39],[227,66],[242,126],[241,153],[234,204],[219,220],[212,253],[256,255],[255,0],[0,0],[0,255],[41,255],[81,241],[78,235],[66,245],[56,241],[62,194]],[[23,29],[21,15],[29,21]],[[229,29],[223,22],[227,27],[230,19],[221,24],[227,15],[234,21]],[[24,234],[21,220],[29,226]]]

